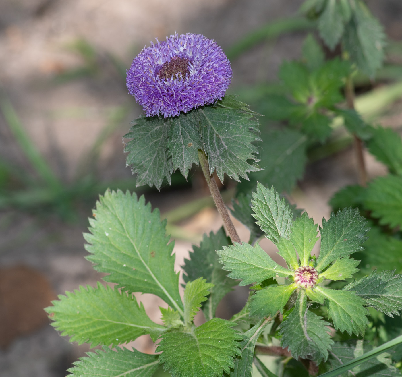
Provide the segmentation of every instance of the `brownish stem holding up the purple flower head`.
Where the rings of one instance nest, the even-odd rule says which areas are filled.
[[[211,192],[213,201],[215,202],[216,208],[218,209],[219,215],[221,215],[222,220],[224,221],[224,226],[226,229],[226,233],[229,234],[232,243],[238,242],[241,244],[240,237],[238,236],[236,229],[230,219],[228,210],[226,209],[226,205],[222,199],[221,194],[219,193],[218,186],[215,182],[215,178],[209,173],[209,164],[207,155],[198,150],[198,159],[201,165],[202,172],[204,173],[205,180],[207,181],[209,191]]]

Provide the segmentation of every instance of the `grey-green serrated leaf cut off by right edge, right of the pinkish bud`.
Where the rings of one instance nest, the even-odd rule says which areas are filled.
[[[402,275],[395,275],[394,271],[373,271],[370,275],[343,288],[355,293],[366,301],[367,306],[386,313],[400,316],[402,310]]]

